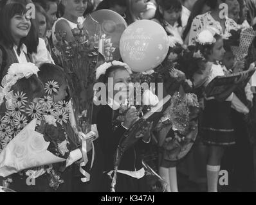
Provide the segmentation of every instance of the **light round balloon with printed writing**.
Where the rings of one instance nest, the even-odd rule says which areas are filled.
[[[152,20],[138,20],[128,26],[120,40],[122,60],[135,72],[154,69],[169,50],[167,33]]]

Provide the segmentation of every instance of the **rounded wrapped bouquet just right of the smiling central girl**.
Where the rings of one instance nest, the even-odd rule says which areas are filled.
[[[172,97],[169,108],[161,118],[157,130],[159,145],[165,150],[165,160],[176,161],[184,158],[197,137],[199,103],[195,94]]]

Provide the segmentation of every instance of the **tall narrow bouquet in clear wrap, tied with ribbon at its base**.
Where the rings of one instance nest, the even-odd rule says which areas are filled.
[[[59,41],[59,50],[62,55],[62,65],[68,76],[69,91],[73,113],[77,124],[77,133],[84,134],[91,131],[93,111],[93,86],[96,82],[95,72],[98,63],[98,44],[100,39],[100,26],[98,22],[86,19],[83,28],[78,23],[78,28],[73,29],[73,42],[67,42],[66,32],[55,33]]]

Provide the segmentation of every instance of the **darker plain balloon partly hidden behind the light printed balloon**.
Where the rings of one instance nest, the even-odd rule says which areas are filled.
[[[120,38],[127,28],[127,23],[123,17],[111,10],[98,10],[91,14],[101,27],[101,40],[99,45],[100,53],[105,57],[105,61],[120,60]]]

